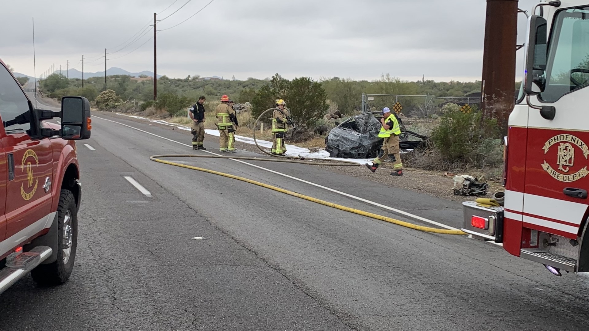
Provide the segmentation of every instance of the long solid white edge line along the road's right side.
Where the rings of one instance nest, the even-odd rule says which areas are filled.
[[[171,141],[173,143],[177,143],[177,144],[184,145],[184,146],[187,146],[187,147],[192,147],[192,145],[180,143],[180,141],[176,141],[176,140],[173,140],[173,139],[170,139],[170,138],[162,137],[161,135],[150,133],[148,131],[141,130],[140,128],[131,127],[131,125],[127,125],[127,124],[120,123],[120,122],[117,122],[117,121],[107,120],[106,118],[98,117],[96,115],[94,115],[94,117],[95,118],[100,118],[100,120],[105,120],[105,121],[109,121],[109,122],[112,122],[112,123],[117,123],[117,124],[123,125],[125,127],[129,127],[129,128],[134,129],[134,130],[141,131],[143,133],[147,133],[147,134],[153,135],[154,137],[158,137],[158,138],[162,138],[162,139],[167,140],[167,141]],[[213,154],[213,155],[218,155],[218,156],[224,156],[224,155],[220,155],[220,154],[217,154],[217,153],[213,153],[211,151],[203,151],[203,152],[206,152],[206,153],[209,153],[209,154]],[[438,223],[438,222],[433,221],[433,220],[426,219],[425,217],[421,217],[421,216],[417,216],[417,215],[414,215],[414,214],[411,214],[411,213],[407,213],[406,211],[402,211],[402,210],[399,210],[397,208],[392,208],[392,207],[389,207],[389,206],[385,206],[383,204],[379,204],[379,203],[376,203],[374,201],[366,200],[365,198],[356,197],[356,196],[353,196],[352,194],[348,194],[348,193],[345,193],[345,192],[342,192],[342,191],[334,190],[333,188],[330,188],[330,187],[322,186],[322,185],[319,185],[319,184],[316,184],[316,183],[312,183],[310,181],[306,181],[306,180],[303,180],[303,179],[300,179],[300,178],[297,178],[297,177],[293,177],[293,176],[289,176],[287,174],[279,173],[278,171],[270,170],[268,168],[256,166],[256,164],[247,163],[247,162],[244,162],[244,161],[241,161],[241,160],[236,160],[234,158],[230,158],[229,160],[233,160],[233,161],[236,161],[236,162],[239,162],[239,163],[247,164],[248,166],[251,166],[251,167],[254,167],[254,168],[259,168],[259,169],[265,170],[265,171],[269,171],[270,173],[277,174],[277,175],[280,175],[280,176],[283,176],[283,177],[286,177],[286,178],[290,178],[290,179],[293,179],[293,180],[296,180],[296,181],[300,181],[302,183],[309,184],[309,185],[312,185],[312,186],[315,186],[315,187],[323,188],[324,190],[331,191],[333,193],[337,193],[337,194],[340,194],[342,196],[353,198],[355,200],[362,201],[362,202],[365,202],[365,203],[368,203],[368,204],[372,204],[373,206],[377,206],[377,207],[380,207],[380,208],[391,210],[391,211],[393,211],[395,213],[402,214],[404,216],[411,217],[412,219],[420,220],[420,221],[423,221],[425,223],[433,224],[435,226],[439,226],[439,227],[442,227],[444,229],[448,229],[448,230],[460,230],[460,229],[456,229],[455,227],[447,226],[446,224],[442,224],[442,223]]]

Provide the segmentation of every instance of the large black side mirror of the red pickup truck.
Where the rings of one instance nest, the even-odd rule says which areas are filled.
[[[82,140],[90,138],[92,120],[90,102],[84,97],[61,98],[61,138]]]

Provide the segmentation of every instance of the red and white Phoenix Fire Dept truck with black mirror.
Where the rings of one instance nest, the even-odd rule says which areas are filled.
[[[589,272],[589,2],[540,2],[531,14],[504,204],[465,202],[462,230],[557,276]]]

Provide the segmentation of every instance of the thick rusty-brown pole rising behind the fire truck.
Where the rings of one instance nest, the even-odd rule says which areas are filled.
[[[481,111],[485,119],[497,118],[505,134],[515,105],[517,15],[518,0],[487,0]]]

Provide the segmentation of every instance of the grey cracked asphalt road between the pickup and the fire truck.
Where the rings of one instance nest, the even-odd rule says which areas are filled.
[[[587,277],[555,277],[492,244],[151,161],[204,153],[171,127],[105,114],[92,126],[92,138],[78,141],[84,195],[74,274],[53,289],[27,277],[2,294],[2,330],[587,329]],[[217,139],[207,135],[205,146],[216,151]],[[428,225],[237,161],[168,160]],[[460,224],[456,203],[316,167],[252,164]]]

